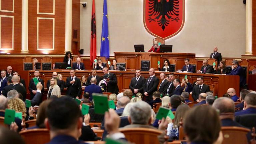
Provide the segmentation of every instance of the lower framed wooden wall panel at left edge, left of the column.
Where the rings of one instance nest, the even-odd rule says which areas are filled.
[[[1,49],[13,49],[13,17],[1,16]]]

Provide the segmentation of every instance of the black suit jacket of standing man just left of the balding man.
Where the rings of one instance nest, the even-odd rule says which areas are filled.
[[[145,84],[146,79],[143,76],[140,76],[140,78],[138,79],[137,85],[136,85],[136,77],[133,77],[129,88],[132,90],[132,94],[135,95],[134,93],[134,89],[138,89],[138,91],[140,93],[142,93],[142,95],[144,96],[144,92],[143,92],[143,85]]]

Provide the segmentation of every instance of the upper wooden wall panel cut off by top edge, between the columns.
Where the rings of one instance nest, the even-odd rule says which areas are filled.
[[[54,13],[55,0],[37,0],[39,13]]]

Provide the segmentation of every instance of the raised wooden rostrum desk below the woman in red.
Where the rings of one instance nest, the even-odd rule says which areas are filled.
[[[155,53],[155,52],[114,52],[115,59],[118,62],[126,62],[126,70],[136,70],[141,67],[141,60],[150,60],[150,67],[158,69],[157,61],[160,61],[160,67],[163,67],[163,61],[167,58],[176,58],[176,69],[182,69],[185,65],[185,58],[195,58],[192,53]]]

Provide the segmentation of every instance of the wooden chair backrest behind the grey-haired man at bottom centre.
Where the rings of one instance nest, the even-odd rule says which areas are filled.
[[[121,128],[119,131],[129,142],[136,144],[159,144],[157,136],[162,133],[151,128]]]

